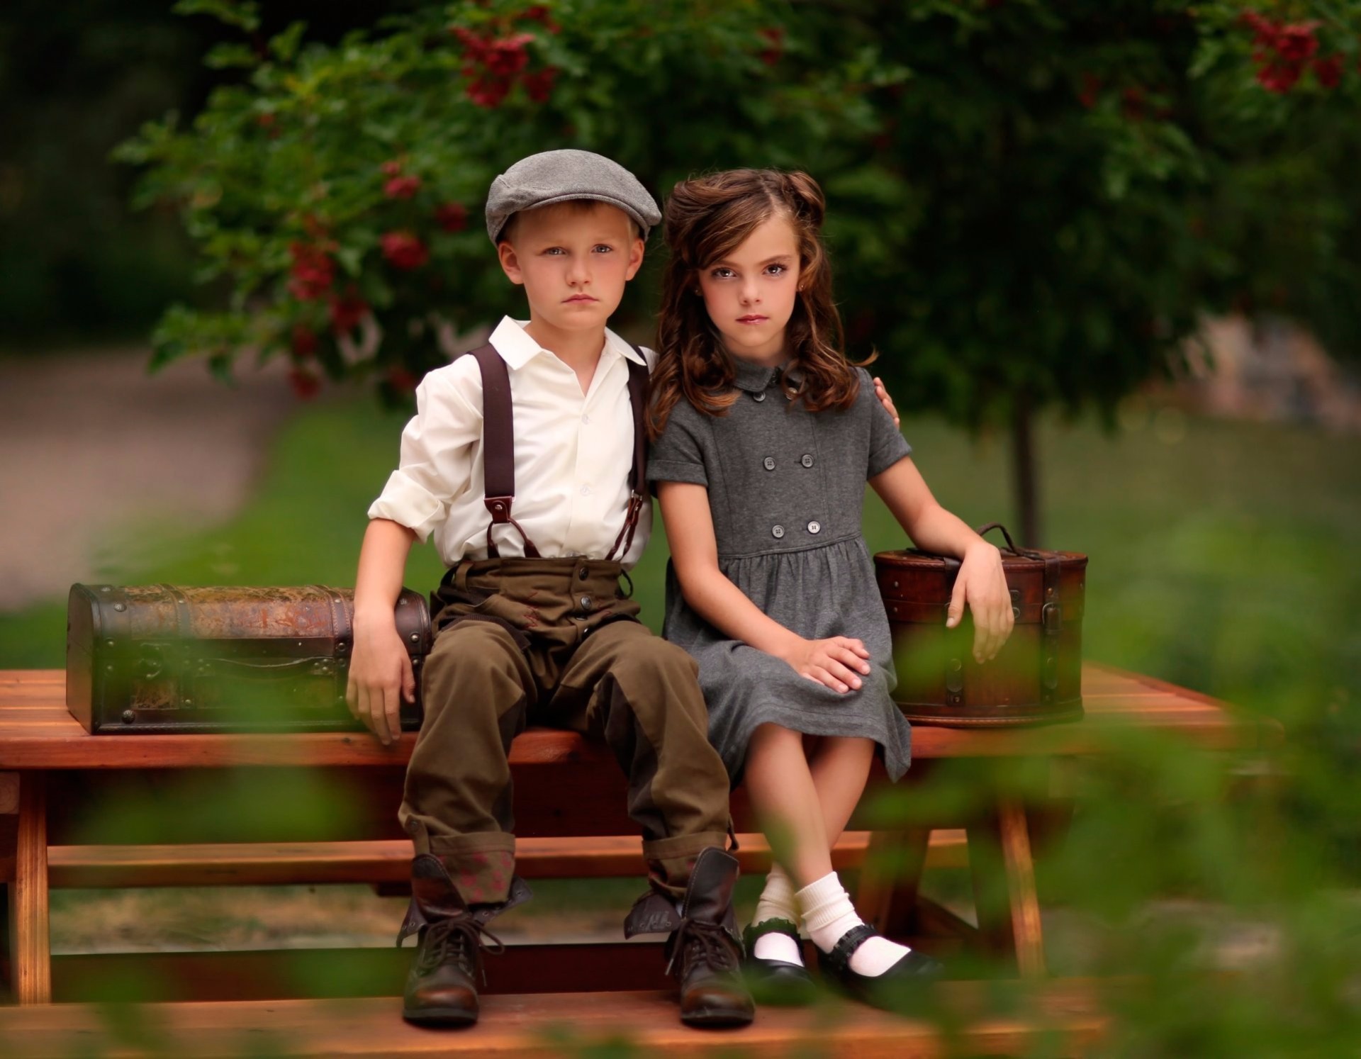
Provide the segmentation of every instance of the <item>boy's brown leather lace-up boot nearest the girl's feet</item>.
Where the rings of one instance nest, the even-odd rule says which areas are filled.
[[[738,859],[717,847],[704,849],[690,873],[680,924],[667,938],[667,971],[680,983],[680,1021],[689,1026],[744,1026],[755,1014],[739,977],[736,882]]]

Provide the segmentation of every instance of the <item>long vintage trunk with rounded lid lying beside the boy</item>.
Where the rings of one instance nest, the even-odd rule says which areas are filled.
[[[71,585],[67,708],[97,734],[357,728],[344,701],[354,591]],[[397,632],[411,655],[421,727],[425,596],[403,589]]]

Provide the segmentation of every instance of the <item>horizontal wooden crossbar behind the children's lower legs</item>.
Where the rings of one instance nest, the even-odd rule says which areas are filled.
[[[770,870],[765,837],[738,834],[746,874]],[[848,832],[832,853],[837,871],[859,868],[870,832]],[[883,841],[893,841],[891,836]],[[291,883],[403,883],[411,878],[411,843],[403,838],[352,843],[218,843],[193,845],[54,845],[48,851],[49,886],[282,886]],[[962,830],[938,830],[925,867],[965,867]],[[527,879],[642,877],[642,845],[633,836],[520,838],[516,870]],[[863,902],[863,897],[862,897]],[[862,905],[863,907],[863,905]]]

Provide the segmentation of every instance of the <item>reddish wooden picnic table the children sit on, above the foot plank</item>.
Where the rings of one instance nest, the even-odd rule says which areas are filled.
[[[853,822],[859,829],[838,845],[836,863],[840,868],[864,867],[856,894],[862,915],[890,935],[924,931],[969,938],[1009,954],[1022,977],[1040,980],[1045,962],[1030,843],[1043,807],[1019,804],[1000,787],[988,788],[994,766],[1015,758],[1048,766],[1056,758],[1106,753],[1112,740],[1131,728],[1175,734],[1207,749],[1258,747],[1279,739],[1279,728],[1271,723],[1236,716],[1222,702],[1109,667],[1086,666],[1083,693],[1087,717],[1075,724],[1013,730],[919,726],[913,732],[915,765],[909,783],[954,760],[976,766],[979,783],[989,794],[980,799],[983,810],[966,818],[931,821],[930,826],[919,824],[911,830],[871,833],[863,821]],[[72,954],[52,960],[49,887],[400,883],[411,853],[396,828],[395,810],[414,740],[414,735],[406,735],[397,745],[382,747],[367,735],[354,732],[90,736],[65,711],[63,672],[0,672],[0,879],[8,882],[8,964],[15,999],[24,1006],[44,1005],[53,998],[76,1000],[90,995],[86,990],[93,981],[124,973],[163,972],[182,990],[176,994],[177,999],[199,1002],[171,1006],[180,1013],[171,1021],[180,1020],[176,1025],[182,1024],[185,1032],[196,1020],[230,1022],[238,1017],[259,1017],[261,1025],[272,1025],[271,1020],[284,1018],[279,1013],[286,1011],[291,1013],[287,1018],[298,1021],[304,1037],[323,1033],[320,1026],[332,1025],[328,1002],[265,1003],[278,1000],[284,995],[280,990],[287,988],[286,976],[276,973],[276,953]],[[623,779],[604,747],[569,732],[532,730],[516,740],[512,768],[523,874],[534,878],[641,877],[638,840],[633,837],[634,828],[623,809]],[[268,787],[271,779],[286,776],[323,777],[331,789],[351,791],[357,798],[346,821],[346,834],[295,833],[289,830],[294,825],[284,819],[275,830],[265,828],[267,833],[256,828],[255,833],[242,836],[214,832],[206,837],[199,832],[201,824],[185,824],[193,817],[189,804],[193,795],[192,789],[185,792],[184,784],[204,779],[225,783],[229,776],[241,791]],[[129,798],[152,799],[154,803],[159,799],[161,804],[157,813],[139,822],[131,837],[110,829],[109,821],[91,817],[95,807],[122,804]],[[182,811],[176,811],[174,804]],[[740,791],[734,799],[734,815],[739,829],[750,826]],[[900,871],[893,878],[881,878],[872,870],[876,851],[894,853]],[[762,871],[769,864],[769,849],[758,836],[747,834],[739,859],[744,871]],[[977,927],[920,897],[917,882],[930,864],[970,867],[979,897]],[[987,893],[998,892],[1004,893],[1000,902],[984,900]],[[339,958],[340,951],[293,950],[287,957],[294,969],[299,961],[302,966],[308,961],[324,966]],[[361,995],[366,988],[393,992],[410,951],[359,951],[367,961],[365,973],[351,976],[338,988]],[[524,995],[540,994],[531,1007],[551,1022],[551,1013],[558,1007],[563,1013],[588,1010],[570,998],[553,999],[557,994],[599,992],[604,999],[592,995],[589,1010],[608,1011],[614,1005],[619,1009],[617,1015],[622,1026],[640,1017],[648,1005],[655,1007],[657,999],[634,992],[615,998],[617,991],[664,990],[667,984],[653,943],[572,946],[570,960],[554,958],[562,953],[562,946],[524,945],[512,946],[506,957],[489,961],[489,994],[494,1003],[505,1006],[508,1013],[528,1010]],[[264,1006],[241,1009],[249,1014],[231,1015],[226,1013],[229,1000]],[[517,1003],[521,1006],[516,1007]],[[363,1005],[387,1005],[382,1007],[387,1013],[392,1000],[365,1000]],[[367,1010],[363,1005],[351,1003],[343,1010],[350,1014]],[[0,1011],[0,1040],[7,1029],[19,1026],[31,1026],[38,1034],[34,1040],[49,1040],[42,1036],[48,1030],[41,1026],[52,1026],[50,1020],[45,1022],[35,1011],[26,1017],[30,1021],[23,1021],[15,1011]],[[1070,1014],[1077,1020],[1074,1025],[1089,1025],[1089,1015],[1094,1017],[1082,1005]],[[799,1028],[804,1026],[799,1020],[811,1017],[788,1015],[788,1021],[780,1022],[784,1029],[776,1037],[788,1033],[793,1034],[789,1040],[796,1039]],[[79,1022],[75,1015],[72,1018]],[[761,1022],[773,1025],[765,1017]],[[335,1025],[342,1024],[343,1020]],[[898,1025],[901,1029],[902,1024]],[[57,1029],[65,1032],[69,1026],[52,1032]],[[513,1028],[508,1022],[505,1029],[508,1033],[512,1029],[528,1032],[523,1021]],[[866,1041],[875,1039],[874,1032],[866,1032],[870,1033]],[[905,1040],[908,1037],[900,1044]],[[656,1043],[663,1045],[660,1039]],[[924,1054],[934,1054],[931,1047],[936,1045],[930,1045],[927,1036],[917,1043]],[[416,1033],[400,1049],[415,1054],[427,1044],[429,1037]],[[392,1047],[399,1051],[396,1044]],[[780,1051],[777,1043],[769,1047],[773,1052]],[[983,1045],[979,1051],[992,1054]],[[44,1052],[26,1049],[26,1054]],[[896,1054],[912,1052],[900,1049]]]

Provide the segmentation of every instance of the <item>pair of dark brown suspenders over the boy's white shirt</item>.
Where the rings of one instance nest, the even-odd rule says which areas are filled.
[[[638,351],[640,357],[642,355],[637,346],[633,348]],[[490,344],[480,346],[468,355],[478,362],[478,370],[482,373],[483,485],[487,510],[491,513],[491,523],[487,525],[487,557],[493,559],[501,557],[491,540],[491,528],[509,524],[524,540],[524,554],[536,559],[539,550],[529,540],[524,527],[512,516],[514,506],[514,410],[510,404],[510,372],[501,354]],[[622,559],[629,553],[645,497],[646,437],[642,417],[648,400],[648,369],[633,361],[627,361],[627,365],[629,404],[633,406],[633,467],[629,470],[629,512],[606,559]]]

